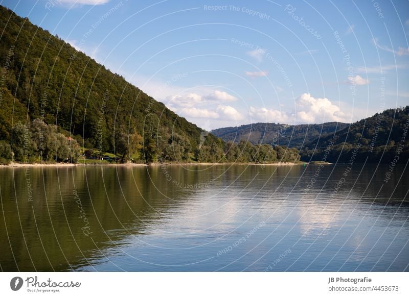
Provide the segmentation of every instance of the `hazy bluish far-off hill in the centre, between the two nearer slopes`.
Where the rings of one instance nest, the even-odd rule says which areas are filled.
[[[320,135],[334,133],[348,126],[349,124],[340,122],[326,122],[320,125],[285,125],[259,122],[239,127],[215,129],[212,133],[224,141],[239,142],[242,139],[248,139],[253,144],[267,143],[299,148],[303,143],[310,142]]]

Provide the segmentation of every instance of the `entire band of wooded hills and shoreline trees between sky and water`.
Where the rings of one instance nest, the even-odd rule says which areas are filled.
[[[357,147],[357,163],[409,158],[409,107],[351,124],[256,123],[209,133],[2,6],[0,32],[1,163],[105,153],[145,163],[348,162]]]

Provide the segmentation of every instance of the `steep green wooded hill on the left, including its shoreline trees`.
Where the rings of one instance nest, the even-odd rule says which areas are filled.
[[[147,163],[300,159],[295,149],[223,142],[3,6],[0,32],[0,163],[104,152]]]

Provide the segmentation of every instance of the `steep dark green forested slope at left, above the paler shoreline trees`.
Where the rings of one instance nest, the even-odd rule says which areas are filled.
[[[0,32],[0,139],[10,140],[18,121],[40,118],[102,152],[122,151],[143,136],[145,151],[155,155],[157,136],[168,141],[170,129],[175,141],[198,146],[202,129],[28,18],[0,7]]]

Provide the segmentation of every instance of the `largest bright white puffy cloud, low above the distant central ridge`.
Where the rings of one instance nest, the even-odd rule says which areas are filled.
[[[323,123],[328,121],[350,122],[351,116],[342,112],[328,98],[314,98],[308,93],[296,100],[293,112],[284,112],[265,107],[249,108],[249,115],[255,120],[282,123]]]

